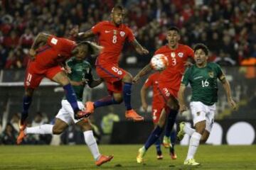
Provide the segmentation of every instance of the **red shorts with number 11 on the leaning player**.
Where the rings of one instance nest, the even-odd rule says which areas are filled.
[[[53,79],[53,77],[58,73],[62,72],[60,66],[50,67],[50,68],[41,68],[38,62],[29,62],[28,67],[26,69],[26,76],[24,80],[25,88],[36,89],[43,77],[47,77],[48,79]]]

